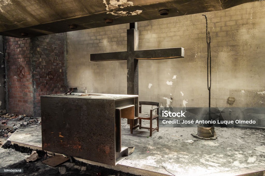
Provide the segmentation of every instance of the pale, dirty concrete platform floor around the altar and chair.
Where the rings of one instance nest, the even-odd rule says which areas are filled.
[[[143,122],[145,126],[148,126],[148,123],[148,121]],[[21,144],[28,141],[29,145],[34,143],[35,146],[40,147],[41,133],[37,131],[40,132],[41,128],[36,127],[34,134],[38,135],[35,137],[29,134],[32,129],[28,130],[29,132],[27,130],[15,132],[15,135],[12,134],[9,139]],[[149,170],[153,172],[152,175],[171,175],[162,168],[163,166],[174,175],[209,175],[223,171],[228,171],[230,175],[232,172],[235,173],[232,175],[238,175],[239,168],[243,168],[243,171],[240,171],[242,174],[253,170],[265,170],[265,153],[254,150],[265,145],[264,130],[216,128],[218,138],[210,141],[194,138],[191,133],[196,132],[197,128],[161,126],[160,131],[153,132],[152,137],[149,137],[148,130],[136,129],[134,134],[130,134],[127,119],[122,119],[122,145],[135,147],[135,150],[115,167],[99,165],[117,170],[125,167],[128,172],[128,168],[133,168],[131,173],[139,175],[150,175],[139,170]],[[23,135],[29,137],[21,137]],[[34,138],[36,141],[32,141]],[[187,140],[193,140],[194,143],[184,142]]]

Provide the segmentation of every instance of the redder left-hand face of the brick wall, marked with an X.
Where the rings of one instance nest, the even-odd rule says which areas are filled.
[[[5,37],[8,109],[33,115],[30,38]]]

